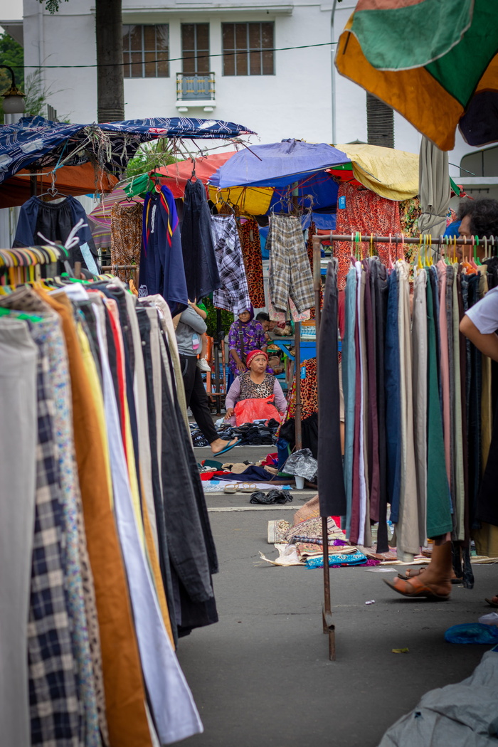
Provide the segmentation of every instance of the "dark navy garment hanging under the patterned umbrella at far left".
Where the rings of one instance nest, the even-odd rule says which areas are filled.
[[[31,247],[45,244],[43,237],[56,244],[64,244],[78,220],[88,223],[87,214],[81,202],[69,196],[63,202],[43,202],[40,197],[28,199],[19,210],[16,236],[13,247]],[[76,234],[79,245],[69,249],[69,264],[74,267],[75,262],[81,262],[90,272],[99,272],[99,252],[97,252],[92,233],[88,225],[81,226]],[[58,273],[63,271],[63,265],[57,267]]]

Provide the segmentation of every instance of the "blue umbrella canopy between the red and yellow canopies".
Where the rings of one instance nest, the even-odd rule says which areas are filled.
[[[346,153],[326,143],[282,140],[243,149],[226,161],[209,180],[214,187],[288,187],[340,164]],[[320,175],[320,178],[325,179]],[[332,179],[331,179],[332,182]],[[326,181],[323,182],[326,184]],[[308,182],[308,186],[311,182]]]

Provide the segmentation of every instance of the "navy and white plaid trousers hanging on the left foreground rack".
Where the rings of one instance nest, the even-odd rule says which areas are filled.
[[[50,396],[49,361],[39,344],[37,492],[28,622],[31,744],[84,744],[62,568],[63,512]]]

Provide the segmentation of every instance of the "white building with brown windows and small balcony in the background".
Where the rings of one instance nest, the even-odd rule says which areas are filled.
[[[216,117],[246,125],[263,143],[366,141],[366,94],[337,74],[331,45],[354,7],[355,0],[123,0],[125,118]],[[42,67],[59,117],[96,120],[95,0],[61,2],[55,15],[38,0],[22,8],[22,19],[0,23],[23,40],[26,72]],[[420,134],[397,114],[395,147],[420,147]],[[471,151],[457,134],[452,176]]]

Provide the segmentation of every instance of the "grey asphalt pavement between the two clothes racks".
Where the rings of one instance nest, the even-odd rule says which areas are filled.
[[[302,505],[303,496],[293,495],[294,505]],[[233,510],[249,508],[246,494],[208,495],[207,502],[220,557],[214,577],[220,622],[180,641],[178,657],[205,725],[204,734],[184,744],[376,747],[424,692],[461,681],[490,648],[452,645],[443,633],[490,611],[483,598],[498,591],[497,565],[474,565],[475,588],[455,586],[446,602],[391,592],[382,578],[397,568],[392,575],[332,568],[337,661],[330,662],[321,622],[323,571],[259,558],[259,551],[276,557],[267,522],[292,521],[293,509]],[[370,599],[376,603],[365,605]]]

